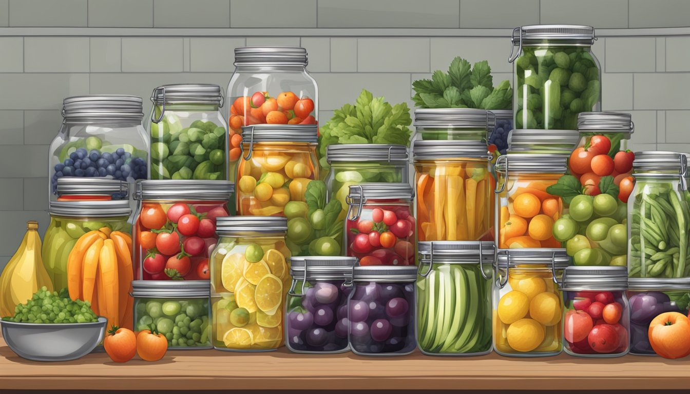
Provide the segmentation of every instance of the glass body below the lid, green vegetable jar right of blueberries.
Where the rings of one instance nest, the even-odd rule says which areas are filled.
[[[235,164],[228,166],[228,125],[217,105],[166,103],[163,119],[153,122],[161,110],[154,106],[148,117],[151,179],[235,181]]]

